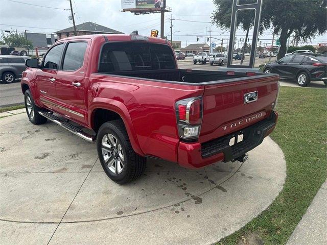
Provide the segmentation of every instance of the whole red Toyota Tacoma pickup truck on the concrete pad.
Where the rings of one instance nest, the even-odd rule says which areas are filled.
[[[244,161],[277,121],[278,75],[178,69],[164,39],[69,37],[26,66],[30,121],[96,141],[119,184],[141,176],[147,157],[193,168]]]

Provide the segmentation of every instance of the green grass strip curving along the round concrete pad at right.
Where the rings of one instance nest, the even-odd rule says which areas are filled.
[[[285,154],[287,177],[281,193],[258,217],[216,244],[236,244],[259,234],[264,244],[285,244],[327,174],[326,89],[281,87],[272,139]],[[242,244],[241,242],[241,244]]]

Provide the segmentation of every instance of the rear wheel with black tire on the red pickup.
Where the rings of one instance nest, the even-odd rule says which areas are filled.
[[[108,121],[100,127],[97,149],[101,165],[112,181],[122,185],[144,173],[146,158],[132,149],[122,120]]]

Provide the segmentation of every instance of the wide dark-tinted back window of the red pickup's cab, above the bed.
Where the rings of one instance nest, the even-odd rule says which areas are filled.
[[[99,72],[176,68],[170,46],[155,43],[117,42],[104,44]]]

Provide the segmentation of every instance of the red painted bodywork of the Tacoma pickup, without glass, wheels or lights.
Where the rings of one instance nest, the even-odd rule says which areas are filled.
[[[105,36],[109,42],[131,41],[130,35]],[[66,44],[78,40],[88,43],[80,69],[45,72],[27,68],[21,83],[30,87],[39,107],[48,108],[89,129],[94,129],[96,109],[107,109],[119,114],[124,121],[132,148],[141,156],[158,157],[178,162],[185,167],[202,167],[221,161],[224,158],[222,153],[201,158],[201,143],[267,118],[271,113],[271,103],[276,100],[278,76],[261,79],[253,76],[244,77],[244,80],[237,82],[197,85],[98,74],[100,50],[106,42],[104,36],[71,37],[57,43]],[[170,45],[159,38],[149,37],[149,41]],[[50,76],[56,78],[56,83],[48,82]],[[72,86],[71,83],[75,81],[80,82],[81,86]],[[42,88],[46,90],[46,94],[41,94]],[[244,94],[252,91],[258,91],[258,101],[244,104]],[[197,96],[203,97],[200,136],[196,142],[182,142],[177,129],[175,103]],[[246,121],[247,117],[258,113],[262,113],[260,118]],[[223,128],[242,119],[244,123]]]

